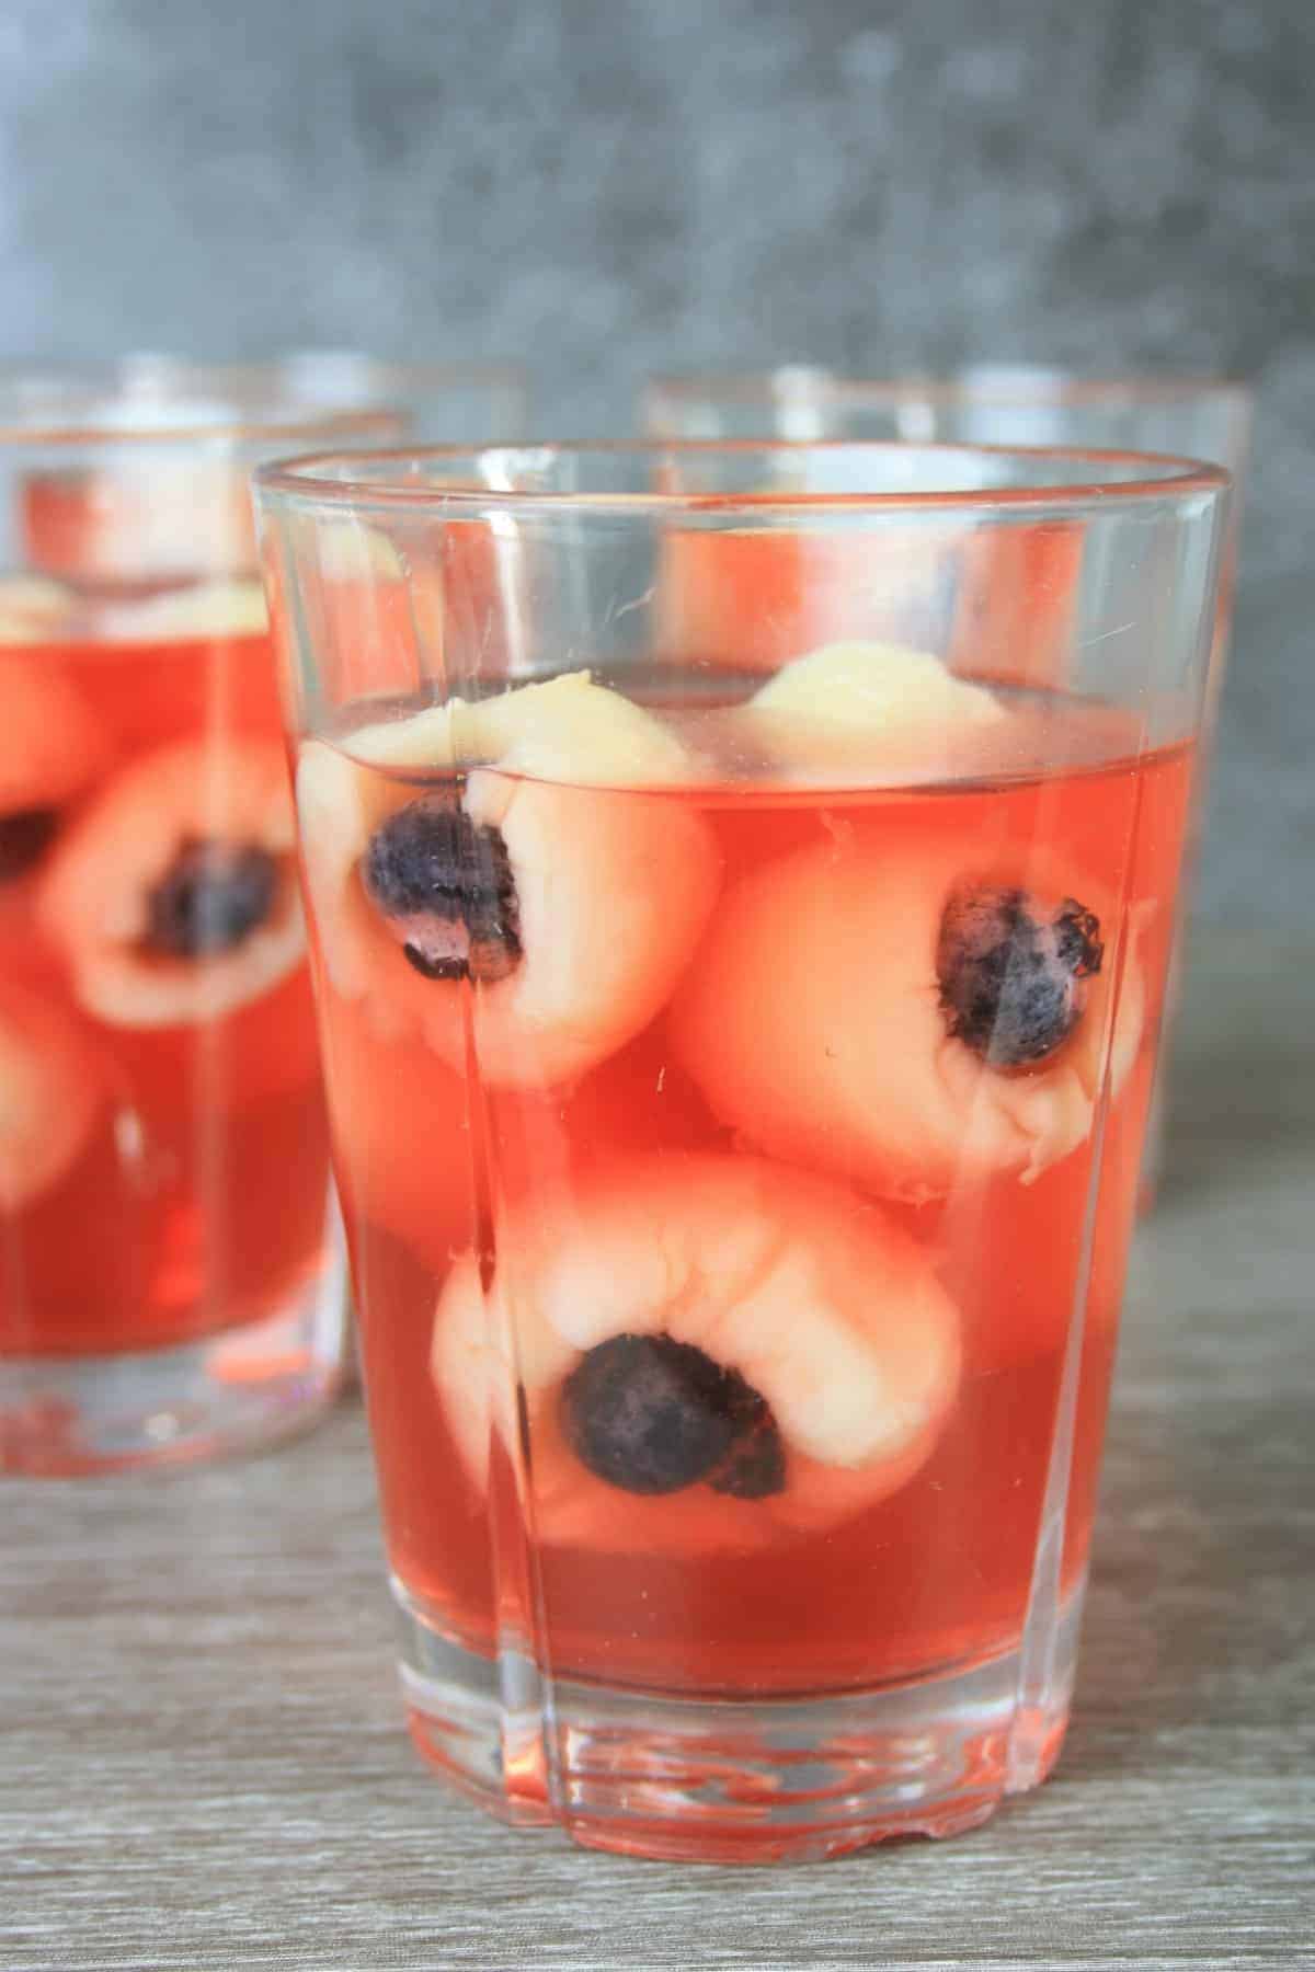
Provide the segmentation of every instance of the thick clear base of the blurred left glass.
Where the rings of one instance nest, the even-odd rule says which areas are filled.
[[[0,1471],[71,1477],[250,1451],[333,1402],[347,1355],[341,1242],[280,1305],[197,1341],[0,1357]]]

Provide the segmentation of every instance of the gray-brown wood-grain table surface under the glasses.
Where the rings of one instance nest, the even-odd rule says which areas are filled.
[[[4,1483],[0,1966],[1315,1964],[1315,951],[1199,939],[1055,1779],[948,1844],[513,1834],[400,1724],[365,1426]]]

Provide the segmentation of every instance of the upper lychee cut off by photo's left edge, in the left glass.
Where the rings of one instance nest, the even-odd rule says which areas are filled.
[[[91,706],[55,663],[0,655],[0,887],[37,866],[106,759]]]

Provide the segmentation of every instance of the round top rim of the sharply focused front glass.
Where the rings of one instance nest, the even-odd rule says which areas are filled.
[[[735,491],[588,491],[576,487],[497,487],[475,479],[475,461],[487,461],[497,471],[497,461],[524,459],[538,461],[560,458],[637,458],[651,465],[662,459],[680,458],[747,458],[765,454],[769,458],[822,456],[840,458],[844,454],[871,454],[879,458],[1005,458],[1005,459],[1049,459],[1071,461],[1074,467],[1114,467],[1136,465],[1149,471],[1132,477],[1100,477],[1076,471],[1073,477],[1057,477],[1045,485],[976,485],[911,489],[873,487],[869,491],[830,491],[830,489],[735,489]],[[453,479],[428,479],[416,483],[422,467],[465,467]],[[388,477],[388,467],[396,467]],[[1153,471],[1163,467],[1163,471]],[[501,467],[507,477],[511,467]],[[410,483],[408,483],[410,481]],[[465,483],[463,483],[465,481]],[[580,440],[536,446],[388,446],[359,452],[306,452],[292,458],[268,459],[252,475],[256,497],[262,505],[315,505],[347,511],[424,511],[424,509],[489,509],[532,513],[570,511],[615,513],[615,515],[672,515],[672,513],[893,513],[893,511],[992,511],[1029,507],[1100,507],[1163,501],[1199,495],[1218,495],[1232,487],[1232,473],[1207,459],[1181,458],[1161,452],[1102,450],[1094,446],[988,446],[988,444],[901,444],[895,440],[785,440],[785,438],[680,438],[680,440]]]

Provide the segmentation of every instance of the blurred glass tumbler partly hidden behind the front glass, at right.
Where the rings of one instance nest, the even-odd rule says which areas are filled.
[[[1209,753],[1218,696],[1224,684],[1232,635],[1232,598],[1242,523],[1240,489],[1252,428],[1252,390],[1238,379],[1191,375],[1082,377],[1074,371],[1031,363],[974,363],[950,377],[891,377],[862,381],[808,365],[741,375],[655,377],[645,387],[643,424],[653,438],[785,438],[785,440],[905,440],[917,444],[976,446],[1098,446],[1114,452],[1167,452],[1211,459],[1232,475],[1228,532],[1214,615],[1214,649],[1207,686],[1207,712],[1199,747],[1195,814],[1189,830],[1189,870],[1181,885],[1183,911],[1191,901],[1191,862],[1197,824],[1207,795]],[[1037,682],[1063,682],[1071,657],[1071,590],[1076,580],[1073,542],[1055,528],[1033,536],[1019,532],[1017,611],[1031,625],[1019,639],[1013,617],[992,609],[996,649],[980,641],[980,582],[972,556],[960,568],[962,613],[970,623],[968,661],[982,669],[1017,669],[1027,645],[1027,667]],[[1000,576],[990,578],[998,590]],[[1051,629],[1037,635],[1039,613]],[[1177,1006],[1173,968],[1165,1027],[1171,1037]],[[1169,1067],[1169,1047],[1161,1045]],[[1165,1075],[1157,1075],[1145,1136],[1142,1203],[1159,1189],[1165,1160]]]

